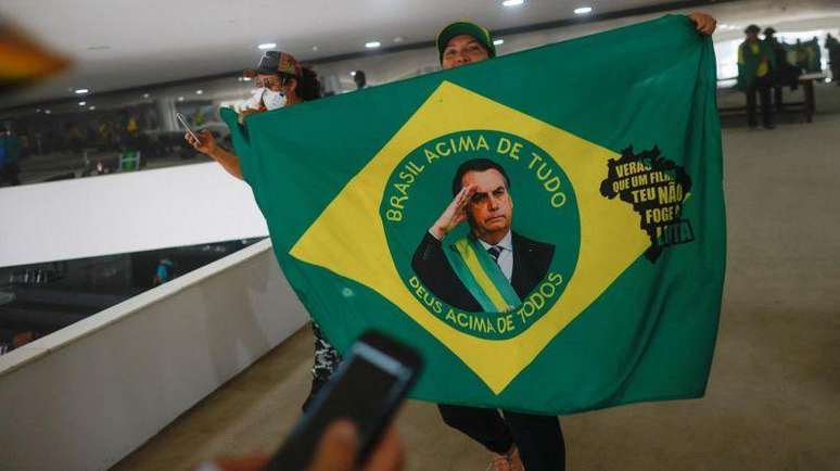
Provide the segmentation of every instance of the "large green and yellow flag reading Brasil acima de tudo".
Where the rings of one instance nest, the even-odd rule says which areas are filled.
[[[378,329],[424,356],[416,398],[570,413],[703,395],[725,263],[715,87],[711,39],[665,16],[244,126],[221,114],[339,351]],[[464,168],[495,183],[438,240]]]

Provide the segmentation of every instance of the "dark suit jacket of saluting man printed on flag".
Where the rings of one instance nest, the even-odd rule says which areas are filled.
[[[516,232],[512,233],[513,272],[510,284],[520,298],[524,298],[548,273],[555,246],[536,242]],[[447,245],[446,250],[455,250]],[[475,297],[467,291],[467,287],[455,275],[444,254],[441,241],[429,232],[415,251],[411,268],[420,281],[444,303],[464,311],[483,310]]]

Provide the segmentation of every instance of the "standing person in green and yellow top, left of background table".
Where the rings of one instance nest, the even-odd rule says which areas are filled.
[[[759,39],[761,28],[750,25],[743,30],[747,39],[738,47],[738,85],[747,94],[747,123],[758,127],[755,117],[755,94],[761,97],[762,125],[773,129],[773,106],[769,89],[773,86],[773,71],[776,58],[769,46]]]

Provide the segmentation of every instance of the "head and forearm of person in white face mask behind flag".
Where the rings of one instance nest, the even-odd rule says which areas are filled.
[[[321,96],[321,86],[315,72],[301,67],[294,56],[287,52],[267,51],[257,67],[245,71],[243,75],[256,78],[257,91],[245,103],[245,109],[240,113],[240,122],[254,113],[293,106]],[[189,132],[183,138],[193,149],[221,164],[230,175],[242,179],[242,168],[237,155],[219,147],[208,130],[199,131],[196,135],[199,139],[194,139]]]

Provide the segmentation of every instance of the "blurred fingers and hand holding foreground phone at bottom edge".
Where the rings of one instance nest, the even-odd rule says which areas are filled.
[[[405,449],[394,427],[390,427],[370,458],[361,468],[355,466],[358,453],[358,432],[348,420],[336,420],[327,428],[306,471],[402,471],[405,468]],[[267,456],[247,458],[221,458],[205,462],[193,471],[262,471]],[[289,470],[298,471],[298,470]]]

